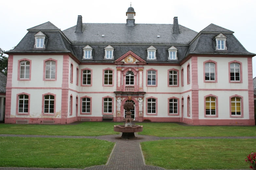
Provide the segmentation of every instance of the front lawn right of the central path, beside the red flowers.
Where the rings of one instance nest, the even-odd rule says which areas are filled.
[[[141,143],[147,165],[166,169],[249,169],[255,139],[161,140]]]

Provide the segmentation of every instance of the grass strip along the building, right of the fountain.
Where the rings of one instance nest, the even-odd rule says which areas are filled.
[[[182,126],[177,123],[137,123],[143,125],[139,135],[162,137],[256,136],[256,126]]]

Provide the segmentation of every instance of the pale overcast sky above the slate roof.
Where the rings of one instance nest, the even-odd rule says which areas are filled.
[[[26,35],[28,28],[50,21],[62,31],[77,24],[77,15],[88,23],[126,23],[130,0],[28,1],[1,0],[0,48],[10,50]],[[211,23],[234,31],[236,38],[252,53],[256,53],[255,0],[136,0],[131,2],[136,12],[135,23],[179,24],[196,32]],[[256,76],[256,57],[253,77]]]

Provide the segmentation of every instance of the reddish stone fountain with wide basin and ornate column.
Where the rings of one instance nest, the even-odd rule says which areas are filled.
[[[140,125],[132,125],[133,118],[131,118],[131,109],[133,109],[133,103],[132,102],[126,102],[124,104],[124,109],[127,110],[126,112],[126,118],[125,125],[114,125],[114,131],[115,132],[122,132],[121,138],[123,139],[133,139],[135,138],[134,132],[142,132],[143,126]]]

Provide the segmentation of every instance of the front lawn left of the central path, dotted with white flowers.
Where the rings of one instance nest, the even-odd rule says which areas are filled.
[[[0,137],[0,167],[85,168],[105,164],[114,143],[97,139]]]

